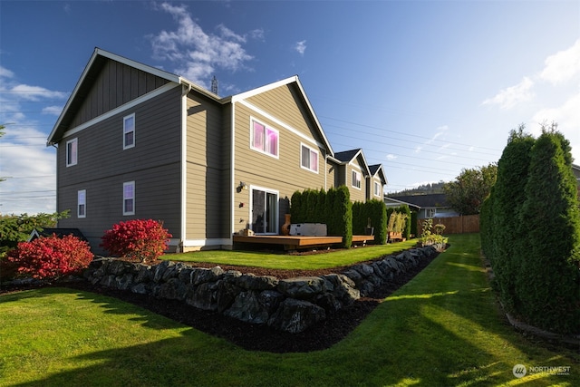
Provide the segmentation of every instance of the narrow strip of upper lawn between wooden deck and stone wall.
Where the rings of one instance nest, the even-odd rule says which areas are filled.
[[[216,265],[252,266],[274,269],[309,270],[349,266],[357,262],[398,253],[417,244],[417,239],[387,245],[356,247],[329,254],[287,255],[253,251],[206,250],[190,253],[167,254],[160,259],[182,262],[210,262]]]

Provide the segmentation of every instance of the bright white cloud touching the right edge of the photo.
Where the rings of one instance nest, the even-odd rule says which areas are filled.
[[[548,56],[540,78],[556,85],[570,81],[578,74],[580,74],[580,39],[567,50]]]

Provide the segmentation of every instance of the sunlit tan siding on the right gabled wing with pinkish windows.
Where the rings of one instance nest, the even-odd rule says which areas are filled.
[[[235,103],[235,179],[244,181],[249,187],[258,187],[278,192],[278,227],[284,224],[284,214],[288,211],[292,194],[304,189],[326,189],[332,181],[325,173],[327,150],[316,145],[323,142],[317,133],[314,121],[305,113],[303,100],[295,91],[295,86],[284,85],[272,91],[248,98],[248,102],[259,111],[247,105]],[[266,111],[267,116],[260,111]],[[250,147],[251,120],[256,119],[275,129],[278,137],[278,158],[266,155]],[[280,125],[283,122],[284,125]],[[291,128],[292,130],[288,129]],[[302,136],[295,132],[302,133]],[[305,137],[305,138],[304,138]],[[302,144],[318,150],[318,173],[301,168]],[[234,231],[237,232],[251,223],[251,189],[234,194]]]

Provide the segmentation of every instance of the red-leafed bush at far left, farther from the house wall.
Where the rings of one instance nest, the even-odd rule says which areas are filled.
[[[89,244],[78,237],[39,237],[32,242],[20,242],[8,252],[7,260],[17,266],[17,272],[34,278],[58,278],[89,266],[92,261]]]

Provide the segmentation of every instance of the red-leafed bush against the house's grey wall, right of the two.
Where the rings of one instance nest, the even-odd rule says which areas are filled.
[[[113,256],[154,260],[169,246],[168,230],[163,223],[152,219],[135,219],[119,222],[105,231],[101,247]]]

